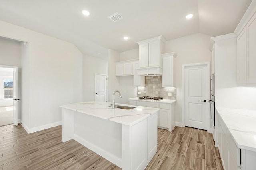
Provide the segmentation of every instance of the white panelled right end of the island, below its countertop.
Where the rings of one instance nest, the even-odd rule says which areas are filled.
[[[157,113],[122,125],[122,170],[144,170],[157,151]]]

